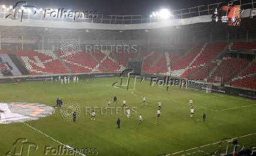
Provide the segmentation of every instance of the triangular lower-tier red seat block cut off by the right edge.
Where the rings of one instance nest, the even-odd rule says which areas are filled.
[[[238,77],[229,82],[232,86],[256,89],[256,62],[246,68]]]

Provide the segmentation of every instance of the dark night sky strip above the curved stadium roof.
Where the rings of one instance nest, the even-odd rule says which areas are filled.
[[[25,0],[22,0],[25,1]],[[15,5],[18,1],[1,0],[0,5]],[[153,11],[161,8],[177,10],[190,8],[198,5],[223,2],[223,0],[27,0],[28,5],[43,9],[82,9],[83,11],[94,10],[102,15],[150,15]]]

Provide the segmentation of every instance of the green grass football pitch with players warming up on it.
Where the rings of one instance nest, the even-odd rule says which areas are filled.
[[[74,148],[97,148],[97,155],[207,155],[219,149],[218,142],[223,138],[234,137],[247,148],[256,145],[255,100],[177,86],[170,86],[167,94],[165,86],[150,86],[147,80],[136,83],[134,91],[127,91],[126,86],[113,87],[116,81],[120,83],[119,78],[113,77],[80,80],[79,84],[69,85],[50,81],[22,82],[21,86],[1,84],[0,102],[55,106],[56,98],[62,98],[63,102],[78,103],[81,112],[76,123],[62,119],[58,108],[53,115],[43,119],[25,124],[1,124],[0,155],[12,150],[17,138],[27,138],[38,144],[38,150],[31,155],[45,155],[45,146],[56,148],[59,142]],[[142,105],[143,95],[146,106]],[[113,96],[117,96],[114,106],[122,106],[125,99],[129,108],[137,108],[137,115],[127,119],[126,115],[110,115],[110,109],[107,115],[96,115],[96,121],[85,115],[85,107],[105,108],[108,98],[113,103]],[[195,109],[192,118],[190,98]],[[162,103],[162,108],[157,121],[158,102]],[[205,123],[203,112],[206,113]],[[140,114],[142,124],[138,123]],[[118,117],[120,130],[116,124]]]

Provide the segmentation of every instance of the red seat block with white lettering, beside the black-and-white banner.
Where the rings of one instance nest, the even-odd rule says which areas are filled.
[[[31,74],[69,72],[52,50],[18,50],[16,53]]]

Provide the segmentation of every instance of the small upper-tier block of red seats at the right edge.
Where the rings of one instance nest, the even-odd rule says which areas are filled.
[[[243,41],[236,41],[231,43],[230,45],[231,50],[248,50],[250,53],[254,53],[253,49],[256,49],[256,41],[253,42],[243,42]]]

